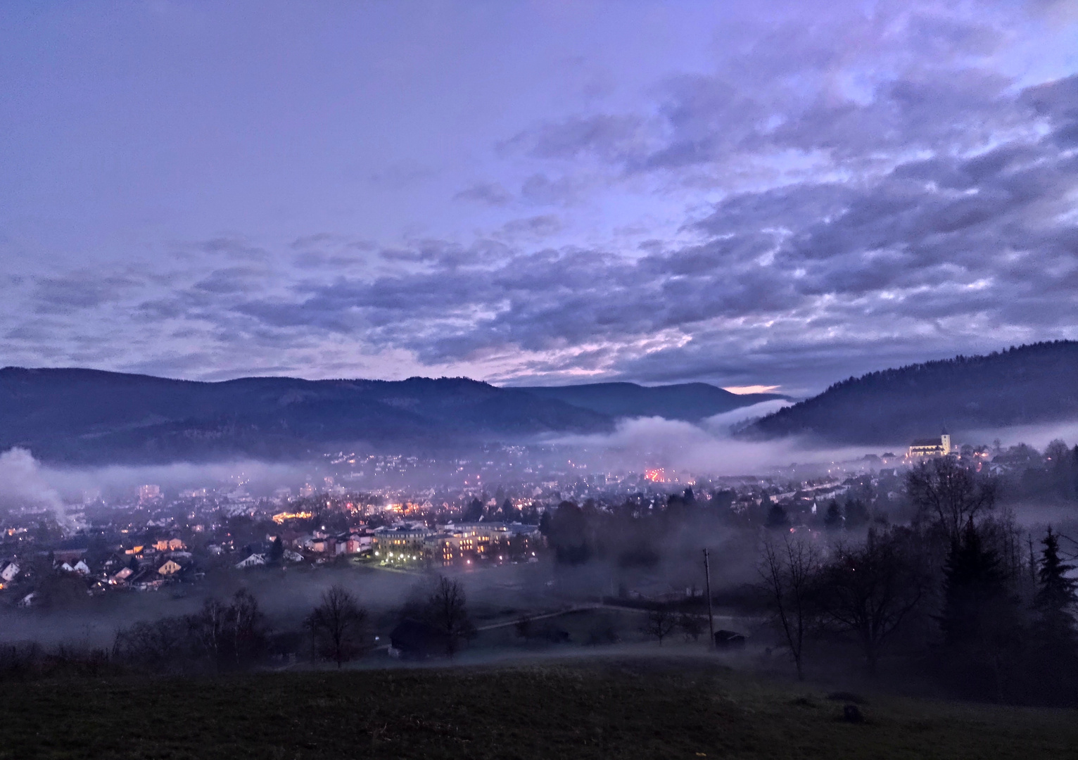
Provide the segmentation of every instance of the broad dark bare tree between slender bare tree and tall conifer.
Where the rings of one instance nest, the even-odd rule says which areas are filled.
[[[863,547],[840,545],[819,578],[817,599],[825,619],[857,637],[870,675],[927,584],[903,537],[908,531],[897,528],[883,534],[870,529]]]

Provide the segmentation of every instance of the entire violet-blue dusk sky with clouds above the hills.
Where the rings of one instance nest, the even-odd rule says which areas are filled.
[[[0,364],[777,386],[1078,338],[1078,3],[0,4]]]

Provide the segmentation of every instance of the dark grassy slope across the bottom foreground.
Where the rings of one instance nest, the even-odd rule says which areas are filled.
[[[0,758],[1075,758],[1078,713],[592,661],[8,685]]]

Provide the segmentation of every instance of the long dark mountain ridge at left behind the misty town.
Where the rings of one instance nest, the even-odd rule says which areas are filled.
[[[26,446],[53,461],[280,458],[336,442],[438,446],[611,428],[607,415],[462,377],[198,383],[0,370],[0,450]]]

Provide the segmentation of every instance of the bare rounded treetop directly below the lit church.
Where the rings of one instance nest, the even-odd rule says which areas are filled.
[[[966,523],[996,502],[996,483],[978,478],[969,468],[950,457],[921,462],[906,476],[914,506],[931,515],[952,542]]]

